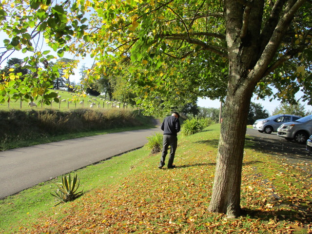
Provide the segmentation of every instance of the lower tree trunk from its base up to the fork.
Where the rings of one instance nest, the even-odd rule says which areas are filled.
[[[240,183],[250,97],[228,95],[222,115],[213,195],[209,211],[240,215]]]

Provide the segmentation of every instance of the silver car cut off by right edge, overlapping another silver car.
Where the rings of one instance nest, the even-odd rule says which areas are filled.
[[[306,143],[312,135],[312,115],[299,118],[294,122],[284,123],[277,129],[277,136],[298,143]]]

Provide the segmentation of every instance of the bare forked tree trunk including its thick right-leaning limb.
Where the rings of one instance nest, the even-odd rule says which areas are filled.
[[[213,194],[210,212],[225,213],[228,217],[240,215],[240,185],[243,151],[250,101],[255,85],[266,74],[285,29],[294,13],[305,0],[277,1],[286,4],[282,16],[272,18],[271,36],[266,34],[267,44],[261,38],[261,21],[264,0],[224,0],[226,40],[228,43],[229,82],[224,105],[219,139]],[[246,12],[246,10],[248,12]],[[272,22],[277,20],[277,22]]]

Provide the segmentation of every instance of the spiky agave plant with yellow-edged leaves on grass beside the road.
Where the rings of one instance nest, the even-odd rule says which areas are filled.
[[[71,176],[71,173],[61,176],[61,183],[55,183],[58,186],[58,190],[54,191],[55,194],[50,193],[59,199],[59,203],[55,206],[59,205],[62,202],[73,201],[77,197],[83,194],[83,190],[76,193],[79,188],[80,180],[77,178],[77,174],[75,176]]]

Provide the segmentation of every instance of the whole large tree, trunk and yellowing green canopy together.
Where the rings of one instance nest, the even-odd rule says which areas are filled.
[[[31,51],[32,74],[2,75],[0,101],[54,98],[58,77],[39,36],[58,55],[96,60],[88,79],[129,75],[147,113],[167,112],[198,97],[225,101],[209,211],[238,216],[244,139],[251,98],[312,103],[309,0],[106,0],[1,3],[5,51]],[[34,39],[36,40],[34,42]],[[123,69],[127,66],[127,70]],[[26,85],[27,84],[27,85]],[[278,90],[273,93],[272,88]],[[46,101],[48,103],[48,101]]]

